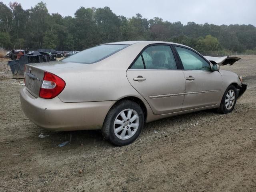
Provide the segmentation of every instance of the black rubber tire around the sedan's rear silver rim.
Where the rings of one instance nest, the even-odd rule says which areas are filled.
[[[118,114],[120,114],[120,112],[122,112],[123,110],[126,110],[126,109],[127,110],[132,109],[133,111],[135,111],[138,114],[139,126],[136,129],[135,133],[130,138],[120,139],[114,133],[114,121],[118,117]],[[116,146],[124,146],[124,145],[131,144],[132,142],[134,142],[134,140],[136,140],[138,138],[138,136],[140,135],[140,132],[142,131],[143,126],[144,126],[144,114],[143,114],[143,111],[140,108],[140,106],[137,103],[132,102],[130,100],[122,100],[120,102],[117,102],[109,110],[109,112],[105,118],[104,124],[102,126],[102,135],[104,136],[104,138],[106,140],[108,140],[112,144],[114,144]],[[122,132],[122,130],[121,130],[121,132]],[[128,131],[126,133],[128,133]]]

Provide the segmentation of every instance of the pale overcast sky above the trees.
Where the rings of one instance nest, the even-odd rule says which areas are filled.
[[[0,0],[8,4],[10,0]],[[12,0],[14,1],[14,0]],[[35,6],[40,0],[15,0],[24,9]],[[186,24],[252,24],[256,26],[256,0],[42,0],[50,13],[74,16],[83,7],[110,7],[116,15],[151,19],[161,17],[170,22]]]

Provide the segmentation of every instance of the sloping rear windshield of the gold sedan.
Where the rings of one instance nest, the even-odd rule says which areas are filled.
[[[99,45],[71,55],[64,62],[92,64],[109,57],[112,54],[126,48],[128,45]]]

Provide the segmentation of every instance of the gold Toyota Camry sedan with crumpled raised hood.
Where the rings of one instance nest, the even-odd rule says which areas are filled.
[[[26,64],[20,102],[44,129],[100,129],[123,146],[147,122],[209,108],[231,112],[247,86],[220,65],[239,59],[204,57],[171,42],[102,44],[61,61]]]

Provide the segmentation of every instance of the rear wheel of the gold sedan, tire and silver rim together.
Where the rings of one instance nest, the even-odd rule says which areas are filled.
[[[112,144],[124,146],[138,138],[143,126],[144,114],[140,106],[130,100],[123,100],[108,112],[102,134]]]

